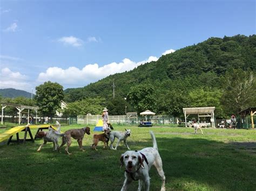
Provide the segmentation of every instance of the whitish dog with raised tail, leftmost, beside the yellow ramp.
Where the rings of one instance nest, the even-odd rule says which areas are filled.
[[[36,138],[43,138],[44,143],[39,146],[37,151],[41,151],[41,148],[43,145],[45,145],[47,142],[52,142],[53,143],[53,151],[56,151],[58,148],[58,139],[62,137],[64,134],[60,133],[60,124],[58,121],[56,121],[56,124],[58,125],[57,131],[49,127],[49,131],[39,131],[36,135]]]

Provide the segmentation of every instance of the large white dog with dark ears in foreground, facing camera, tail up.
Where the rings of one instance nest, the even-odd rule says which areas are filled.
[[[125,165],[125,181],[121,190],[126,190],[132,180],[139,180],[138,190],[141,190],[144,185],[145,190],[149,191],[149,170],[152,165],[157,168],[157,172],[161,178],[161,191],[165,190],[165,175],[162,160],[158,152],[156,137],[154,137],[152,131],[150,131],[150,135],[152,137],[153,147],[143,148],[140,151],[126,151],[121,155],[121,167]]]

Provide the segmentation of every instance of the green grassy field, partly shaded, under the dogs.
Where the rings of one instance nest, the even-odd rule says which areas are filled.
[[[82,126],[63,126],[62,131],[70,128]],[[119,158],[126,147],[121,144],[117,151],[103,150],[103,143],[99,143],[98,151],[92,150],[95,132],[93,126],[90,128],[91,135],[83,140],[86,151],[79,151],[73,140],[69,149],[72,155],[66,155],[64,147],[60,154],[53,152],[52,143],[37,152],[42,139],[0,146],[0,190],[120,190],[124,168],[120,169]],[[255,130],[203,129],[204,135],[193,135],[190,128],[114,126],[114,130],[124,128],[131,129],[127,143],[132,150],[152,146],[149,131],[154,132],[163,159],[166,190],[256,189]],[[0,133],[4,131],[0,129]],[[150,190],[160,190],[154,167],[150,176]],[[138,182],[133,182],[129,190],[137,187]]]

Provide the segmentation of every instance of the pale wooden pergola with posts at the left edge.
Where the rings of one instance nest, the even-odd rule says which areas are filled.
[[[24,109],[28,109],[28,123],[29,123],[29,110],[35,110],[36,111],[36,123],[37,123],[37,110],[39,109],[38,107],[33,107],[29,105],[21,105],[21,104],[13,104],[13,103],[1,103],[2,104],[2,121],[1,124],[3,125],[3,115],[4,115],[4,108],[6,107],[14,107],[18,110],[18,115],[19,115],[19,124],[21,124],[21,112]]]

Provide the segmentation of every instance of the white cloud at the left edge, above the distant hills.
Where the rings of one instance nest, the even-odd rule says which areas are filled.
[[[15,88],[30,91],[31,84],[26,82],[28,76],[19,72],[12,72],[9,68],[3,68],[0,72],[0,89]]]

